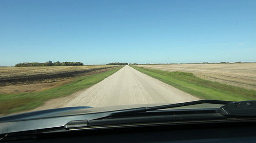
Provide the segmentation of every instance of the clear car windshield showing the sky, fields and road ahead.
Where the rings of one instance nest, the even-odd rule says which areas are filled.
[[[0,117],[75,106],[255,100],[255,6],[0,1]]]

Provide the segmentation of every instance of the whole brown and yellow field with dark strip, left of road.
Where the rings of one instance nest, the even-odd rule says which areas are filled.
[[[0,93],[30,93],[58,87],[73,78],[115,66],[0,67]]]

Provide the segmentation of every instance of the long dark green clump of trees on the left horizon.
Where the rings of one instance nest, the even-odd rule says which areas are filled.
[[[80,62],[54,62],[48,61],[46,63],[18,63],[15,67],[42,67],[42,66],[82,66]]]

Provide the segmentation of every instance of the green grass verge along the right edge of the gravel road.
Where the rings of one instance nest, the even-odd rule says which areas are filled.
[[[196,77],[193,73],[169,72],[137,66],[131,67],[200,99],[229,101],[256,100],[255,90],[205,80]]]

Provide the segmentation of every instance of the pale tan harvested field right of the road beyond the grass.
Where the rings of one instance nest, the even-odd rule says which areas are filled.
[[[165,71],[194,73],[200,78],[256,90],[256,63],[138,65]]]

